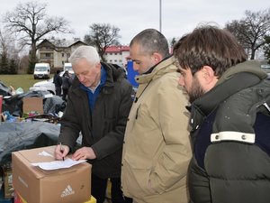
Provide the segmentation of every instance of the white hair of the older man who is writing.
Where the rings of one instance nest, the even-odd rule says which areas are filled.
[[[99,55],[93,46],[79,46],[68,58],[72,65],[83,59],[87,60],[91,65],[100,62]]]

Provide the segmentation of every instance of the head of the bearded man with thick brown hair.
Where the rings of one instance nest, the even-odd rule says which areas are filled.
[[[223,73],[247,60],[247,54],[228,31],[204,25],[175,43],[174,55],[182,73],[179,85],[190,101],[213,88]]]

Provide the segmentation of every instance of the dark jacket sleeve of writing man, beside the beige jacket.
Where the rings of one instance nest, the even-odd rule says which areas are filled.
[[[113,106],[114,108],[118,108],[118,113],[115,115],[117,119],[116,124],[112,127],[112,131],[105,134],[102,139],[92,145],[98,160],[119,151],[122,147],[127,119],[130,114],[130,107],[132,106],[131,95],[133,89],[128,80],[122,79],[118,91],[120,91],[121,95],[120,103],[118,106]]]

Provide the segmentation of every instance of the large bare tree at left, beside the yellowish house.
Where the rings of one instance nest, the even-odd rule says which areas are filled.
[[[20,3],[13,12],[4,15],[5,27],[15,33],[22,46],[30,45],[29,73],[36,63],[37,42],[49,32],[71,33],[67,21],[63,17],[46,14],[47,5],[32,1]]]

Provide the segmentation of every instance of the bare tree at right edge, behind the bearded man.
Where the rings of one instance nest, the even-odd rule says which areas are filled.
[[[245,14],[242,20],[226,23],[225,28],[237,37],[248,54],[250,51],[250,59],[254,60],[256,51],[264,46],[265,36],[270,32],[270,9],[246,11]]]

